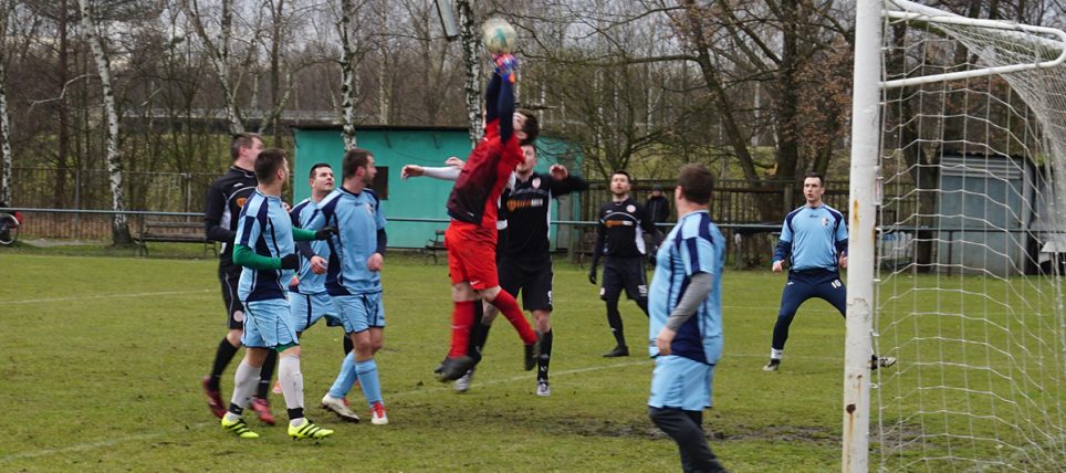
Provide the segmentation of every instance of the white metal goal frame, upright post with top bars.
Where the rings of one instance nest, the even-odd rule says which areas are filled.
[[[902,11],[906,9],[907,11]],[[1046,61],[992,66],[980,70],[881,81],[881,34],[884,19],[895,18],[923,23],[951,23],[1002,30],[1005,36],[1021,38],[1023,32],[1051,34],[1062,43],[1038,40],[1043,45],[1062,50]],[[1026,38],[1031,38],[1027,34]],[[869,470],[870,369],[872,353],[874,275],[876,266],[875,232],[877,221],[877,166],[881,145],[881,92],[887,88],[949,80],[1008,74],[1066,62],[1066,33],[1005,21],[976,20],[923,7],[907,0],[857,0],[855,27],[855,63],[851,104],[851,190],[848,199],[849,233],[847,272],[847,334],[844,368],[844,427],[842,471]]]

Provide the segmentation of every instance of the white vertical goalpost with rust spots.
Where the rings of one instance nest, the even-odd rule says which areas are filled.
[[[869,469],[870,334],[874,315],[874,186],[880,153],[881,2],[855,8],[851,97],[851,195],[848,199],[847,335],[844,353],[844,439],[840,471]]]

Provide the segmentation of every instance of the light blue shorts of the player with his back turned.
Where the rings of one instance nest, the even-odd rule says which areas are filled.
[[[711,407],[714,365],[673,355],[657,357],[648,406],[701,411]]]

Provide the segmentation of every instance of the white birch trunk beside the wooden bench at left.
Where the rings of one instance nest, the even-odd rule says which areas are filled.
[[[129,223],[123,213],[125,203],[122,185],[122,160],[118,153],[118,108],[115,104],[115,92],[111,82],[111,62],[104,51],[103,40],[90,11],[90,0],[77,0],[82,15],[82,30],[85,40],[93,50],[96,72],[100,74],[100,85],[104,95],[104,112],[107,115],[107,171],[111,175],[111,207],[115,211],[112,218],[111,233],[115,246],[127,246],[133,240],[129,238]]]

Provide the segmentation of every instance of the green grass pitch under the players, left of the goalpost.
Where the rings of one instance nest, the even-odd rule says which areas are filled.
[[[472,389],[458,395],[431,372],[449,337],[447,267],[394,253],[377,356],[390,423],[370,425],[357,390],[349,399],[363,423],[317,408],[342,354],[341,330],[320,323],[302,340],[305,404],[336,434],[292,442],[283,427],[249,416],[262,435],[249,441],[221,431],[199,387],[226,330],[216,261],[60,251],[94,253],[0,252],[0,470],[679,470],[675,443],[647,418],[647,319],[624,301],[634,356],[602,358],[614,340],[584,269],[555,266],[552,397],[533,395],[535,375],[521,369],[521,345],[502,317]],[[838,471],[839,315],[822,301],[805,304],[782,370],[760,369],[784,282],[769,271],[727,273],[725,353],[704,427],[733,471]],[[281,424],[284,401],[272,402]]]

